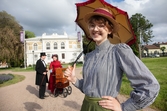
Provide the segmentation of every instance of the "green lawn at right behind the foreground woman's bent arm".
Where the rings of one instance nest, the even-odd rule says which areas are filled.
[[[154,74],[161,87],[159,95],[151,107],[158,108],[161,111],[167,111],[167,57],[143,58],[142,61]],[[120,93],[129,95],[131,90],[130,83],[124,76]]]

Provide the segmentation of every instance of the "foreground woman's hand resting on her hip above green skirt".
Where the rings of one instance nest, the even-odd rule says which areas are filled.
[[[103,96],[103,100],[99,101],[99,105],[103,108],[113,111],[122,111],[120,103],[111,96]]]

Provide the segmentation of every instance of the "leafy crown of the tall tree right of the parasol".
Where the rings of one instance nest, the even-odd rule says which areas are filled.
[[[140,13],[132,15],[132,17],[130,18],[130,22],[132,25],[132,29],[137,37],[138,43],[142,44],[143,42],[144,44],[148,44],[154,37],[151,30],[153,24],[150,23],[149,20],[147,20],[145,16]]]

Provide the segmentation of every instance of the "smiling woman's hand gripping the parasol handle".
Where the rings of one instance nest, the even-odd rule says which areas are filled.
[[[74,64],[74,67],[68,66],[68,68],[64,71],[64,75],[73,84],[75,84],[77,80],[77,78],[75,77],[75,67],[76,67],[76,64]]]

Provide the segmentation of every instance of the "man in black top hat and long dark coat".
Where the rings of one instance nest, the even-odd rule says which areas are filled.
[[[44,61],[46,54],[44,52],[40,53],[40,59],[36,62],[36,81],[35,84],[39,85],[39,98],[44,99],[46,91],[46,83],[48,83],[47,76],[47,66]]]

